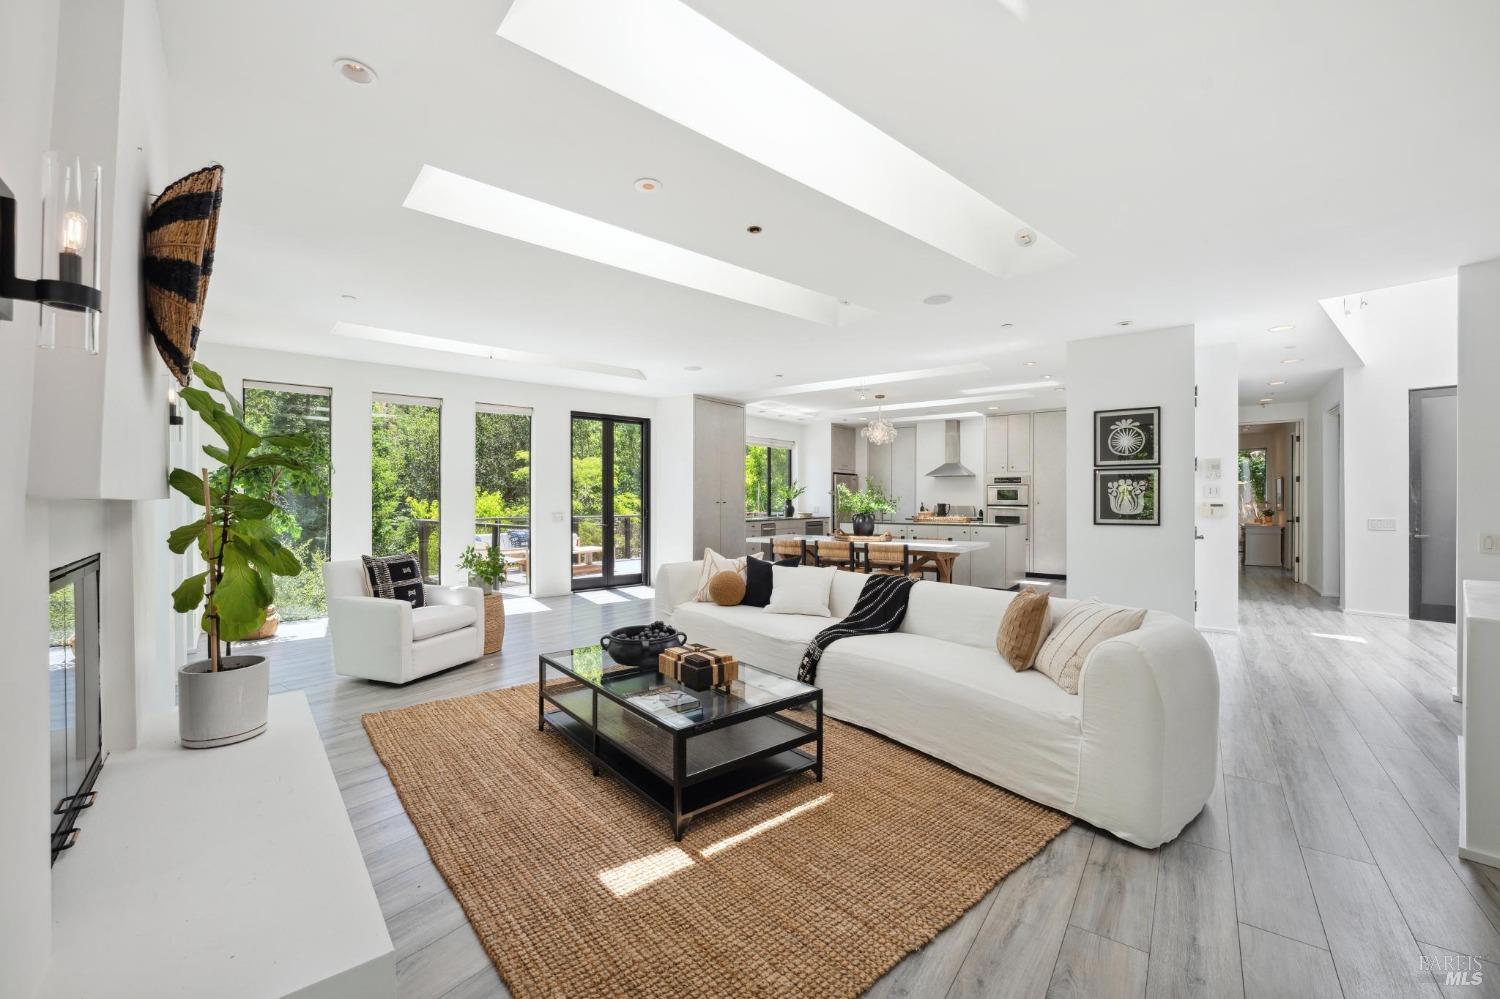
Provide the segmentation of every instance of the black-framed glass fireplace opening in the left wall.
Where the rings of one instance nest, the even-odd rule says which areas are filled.
[[[46,612],[56,864],[78,842],[78,813],[93,804],[93,784],[104,766],[98,555],[52,570]]]

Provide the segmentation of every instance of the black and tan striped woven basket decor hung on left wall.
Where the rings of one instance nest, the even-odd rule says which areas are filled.
[[[204,166],[168,184],[146,219],[146,326],[184,386],[192,381],[222,200],[224,166]]]

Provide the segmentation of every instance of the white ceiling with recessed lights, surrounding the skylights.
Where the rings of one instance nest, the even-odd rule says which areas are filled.
[[[1286,378],[1270,390],[1282,402],[1354,360],[1318,298],[1500,255],[1491,0],[1034,0],[1024,20],[996,0],[692,0],[1072,255],[1014,278],[498,38],[501,0],[159,6],[172,165],[226,168],[210,340],[746,400],[982,366],[879,387],[915,402],[1065,381],[1068,339],[1131,320],[1239,342],[1242,402]],[[344,81],[344,56],[380,82]],[[812,322],[405,208],[423,165],[874,315]],[[663,186],[638,194],[638,177]],[[939,292],[952,302],[922,304]],[[340,321],[516,354],[363,342],[334,336]],[[1296,328],[1266,332],[1278,322]],[[528,354],[645,378],[516,360]],[[856,405],[852,388],[776,399]]]

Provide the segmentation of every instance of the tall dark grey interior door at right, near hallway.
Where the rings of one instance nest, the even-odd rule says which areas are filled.
[[[1458,388],[1410,396],[1410,614],[1454,621],[1458,573]]]

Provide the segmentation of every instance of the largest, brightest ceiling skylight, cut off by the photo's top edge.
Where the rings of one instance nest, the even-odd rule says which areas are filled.
[[[496,33],[992,274],[1070,258],[678,0],[514,0]]]

